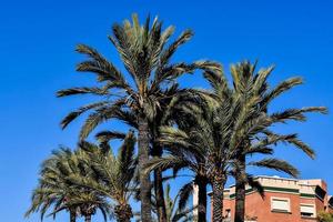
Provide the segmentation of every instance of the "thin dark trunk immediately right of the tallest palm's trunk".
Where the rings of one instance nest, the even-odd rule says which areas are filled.
[[[162,157],[162,148],[159,144],[153,145],[154,157]],[[154,192],[157,199],[157,210],[159,222],[167,222],[167,209],[164,201],[163,175],[160,169],[154,170]]]

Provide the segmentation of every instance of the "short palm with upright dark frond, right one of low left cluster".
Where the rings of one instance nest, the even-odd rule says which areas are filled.
[[[122,138],[120,133],[118,135]],[[82,153],[80,162],[88,173],[85,178],[78,174],[69,176],[75,185],[111,199],[114,203],[113,212],[119,222],[129,222],[133,216],[129,201],[135,191],[133,182],[138,163],[134,157],[135,142],[134,132],[130,131],[124,137],[118,155],[114,155],[110,147],[105,144],[100,148],[85,141],[80,142],[79,148]]]

